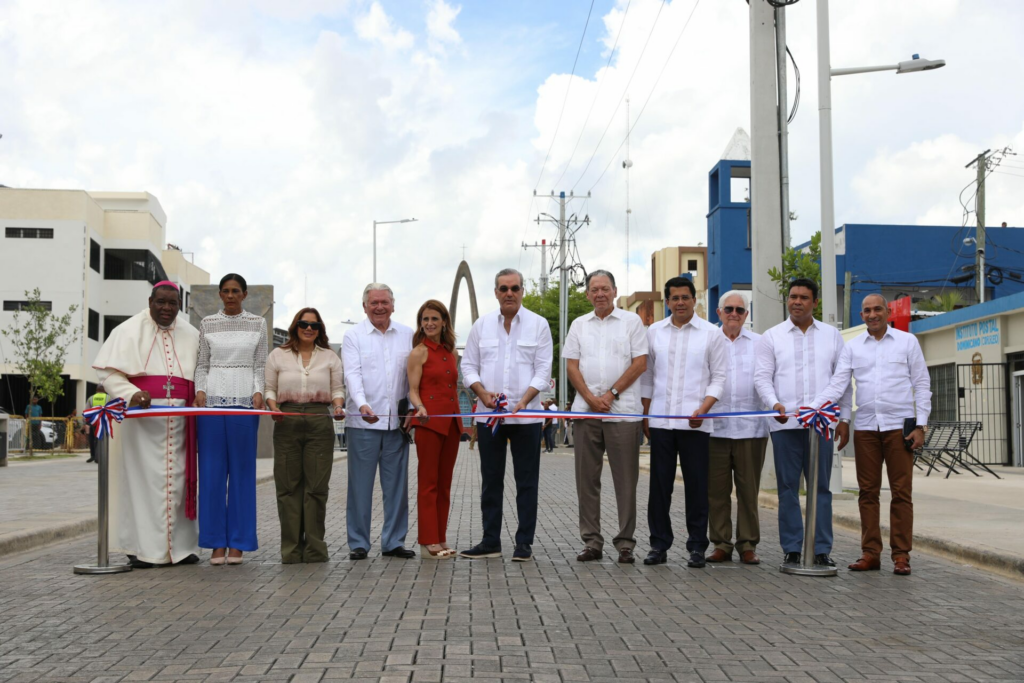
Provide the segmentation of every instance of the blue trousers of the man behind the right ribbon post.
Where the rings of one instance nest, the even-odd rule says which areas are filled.
[[[792,419],[792,418],[791,418]],[[771,433],[775,453],[775,479],[778,482],[778,537],[783,553],[803,552],[804,517],[800,513],[800,475],[807,476],[811,443],[807,429],[780,429]],[[818,505],[815,513],[814,554],[831,553],[831,479],[833,441],[812,433],[818,439]]]

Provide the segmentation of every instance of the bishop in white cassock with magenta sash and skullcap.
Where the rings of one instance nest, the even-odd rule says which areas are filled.
[[[119,325],[93,364],[129,407],[190,405],[199,332],[178,318],[179,292],[158,283],[150,307]],[[199,561],[195,429],[186,418],[133,418],[111,441],[111,548],[132,566]],[[191,461],[191,462],[189,462]]]

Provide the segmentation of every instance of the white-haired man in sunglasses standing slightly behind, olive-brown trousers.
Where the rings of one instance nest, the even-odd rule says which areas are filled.
[[[728,340],[725,385],[715,407],[717,413],[763,410],[754,388],[754,348],[761,335],[746,329],[750,304],[736,291],[719,301],[722,335]],[[768,446],[768,423],[764,418],[729,418],[715,422],[708,467],[709,537],[715,546],[709,562],[728,562],[739,551],[744,564],[759,564],[756,552],[761,541],[758,492],[761,469]],[[733,543],[732,484],[736,484],[736,537]]]

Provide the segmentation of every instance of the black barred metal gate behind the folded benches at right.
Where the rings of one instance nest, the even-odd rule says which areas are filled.
[[[956,419],[981,423],[981,431],[974,437],[970,451],[971,455],[987,465],[1009,465],[1013,462],[1008,429],[1008,374],[1005,362],[956,366]],[[934,384],[932,390],[934,393]],[[930,420],[939,421],[939,418],[932,417]]]

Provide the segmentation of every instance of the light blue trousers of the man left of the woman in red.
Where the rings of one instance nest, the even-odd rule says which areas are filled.
[[[409,532],[409,441],[397,429],[345,429],[348,439],[348,548],[370,550],[374,482],[381,471],[381,550],[406,545]]]

